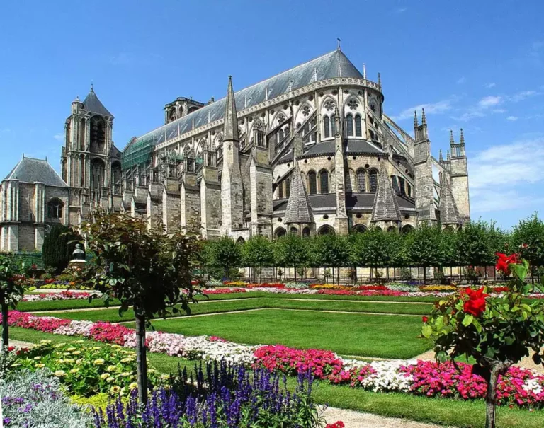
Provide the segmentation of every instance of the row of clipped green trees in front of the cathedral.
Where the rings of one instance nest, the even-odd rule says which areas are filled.
[[[442,272],[444,267],[493,266],[497,252],[521,252],[531,263],[533,278],[538,275],[544,266],[544,222],[538,214],[520,221],[511,232],[480,220],[458,231],[422,224],[405,234],[369,229],[349,236],[288,235],[276,241],[254,236],[244,243],[224,236],[205,243],[201,262],[203,272],[217,279],[232,277],[237,267],[251,267],[259,281],[265,267],[294,268],[295,279],[308,267],[329,267],[333,280],[339,267],[353,272],[355,267],[370,267],[371,272],[378,267],[423,267],[426,280],[427,267]]]

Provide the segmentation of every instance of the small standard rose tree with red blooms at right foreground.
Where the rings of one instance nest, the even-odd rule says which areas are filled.
[[[544,359],[544,301],[527,299],[536,289],[526,283],[529,264],[515,254],[497,255],[497,270],[511,274],[509,291],[499,297],[490,297],[487,287],[459,291],[436,302],[422,328],[424,337],[435,341],[438,361],[451,359],[455,364],[459,357],[475,359],[473,373],[488,383],[487,428],[495,427],[499,376],[527,357],[530,349],[536,364]]]

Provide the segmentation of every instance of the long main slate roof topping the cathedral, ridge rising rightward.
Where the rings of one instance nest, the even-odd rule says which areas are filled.
[[[268,90],[268,98],[276,98],[283,93],[302,88],[310,83],[324,79],[333,79],[335,77],[353,77],[363,79],[363,75],[356,69],[356,66],[346,57],[341,50],[334,50],[321,57],[312,59],[309,62],[295,66],[292,69],[276,74],[269,79],[255,83],[252,86],[234,93],[236,109],[242,111],[244,108],[250,108],[266,100],[265,90]],[[147,134],[142,135],[140,139],[153,139],[153,144],[160,144],[165,141],[165,134],[168,139],[178,137],[193,129],[201,127],[215,120],[223,119],[225,115],[225,104],[227,98],[222,98],[214,103],[205,105],[203,108],[180,117],[166,125],[162,125]],[[130,149],[130,145],[127,147]]]

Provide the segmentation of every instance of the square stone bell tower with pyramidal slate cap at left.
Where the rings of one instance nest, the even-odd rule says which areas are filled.
[[[71,187],[70,224],[77,224],[89,209],[110,207],[113,115],[92,86],[83,102],[72,102],[65,129],[62,178]]]

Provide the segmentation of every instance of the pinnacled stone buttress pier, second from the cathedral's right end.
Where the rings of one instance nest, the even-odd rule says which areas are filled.
[[[417,112],[414,112],[414,134],[417,221],[436,221],[431,141],[427,133],[425,110],[421,110],[421,125],[417,121]]]

